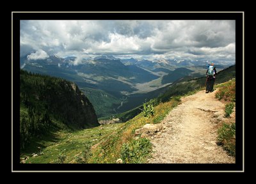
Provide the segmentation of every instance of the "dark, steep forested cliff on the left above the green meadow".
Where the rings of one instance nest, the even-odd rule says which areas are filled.
[[[20,70],[20,148],[56,138],[58,130],[99,126],[92,104],[73,82]],[[33,149],[32,149],[33,150]]]

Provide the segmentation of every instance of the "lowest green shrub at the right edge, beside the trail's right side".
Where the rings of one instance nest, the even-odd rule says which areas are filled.
[[[236,156],[236,123],[223,123],[218,129],[218,144],[223,146],[229,155]]]

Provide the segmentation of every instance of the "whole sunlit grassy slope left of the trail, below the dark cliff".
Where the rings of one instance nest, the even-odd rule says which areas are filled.
[[[116,163],[122,158],[124,163],[145,163],[152,151],[148,139],[134,139],[134,130],[146,123],[159,123],[179,98],[159,104],[154,117],[148,119],[139,114],[125,123],[100,125],[100,127],[78,130],[75,132],[56,132],[54,141],[45,141],[45,147],[38,148],[36,157],[33,153],[20,155],[20,160],[31,164],[101,164]],[[24,162],[24,161],[23,161]]]

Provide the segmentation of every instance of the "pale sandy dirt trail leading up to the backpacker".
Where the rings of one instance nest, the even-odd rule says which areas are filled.
[[[181,99],[161,122],[166,128],[151,137],[154,153],[149,163],[235,163],[216,144],[225,104],[214,98],[215,93],[200,91]]]

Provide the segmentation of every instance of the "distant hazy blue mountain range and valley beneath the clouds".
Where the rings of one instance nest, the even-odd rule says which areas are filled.
[[[218,64],[218,62],[216,63]],[[220,63],[221,64],[221,63]],[[225,68],[218,65],[217,70]],[[92,102],[98,118],[124,112],[154,98],[172,82],[205,75],[205,61],[185,59],[119,59],[114,56],[59,57],[32,60],[20,57],[20,68],[75,82]]]

